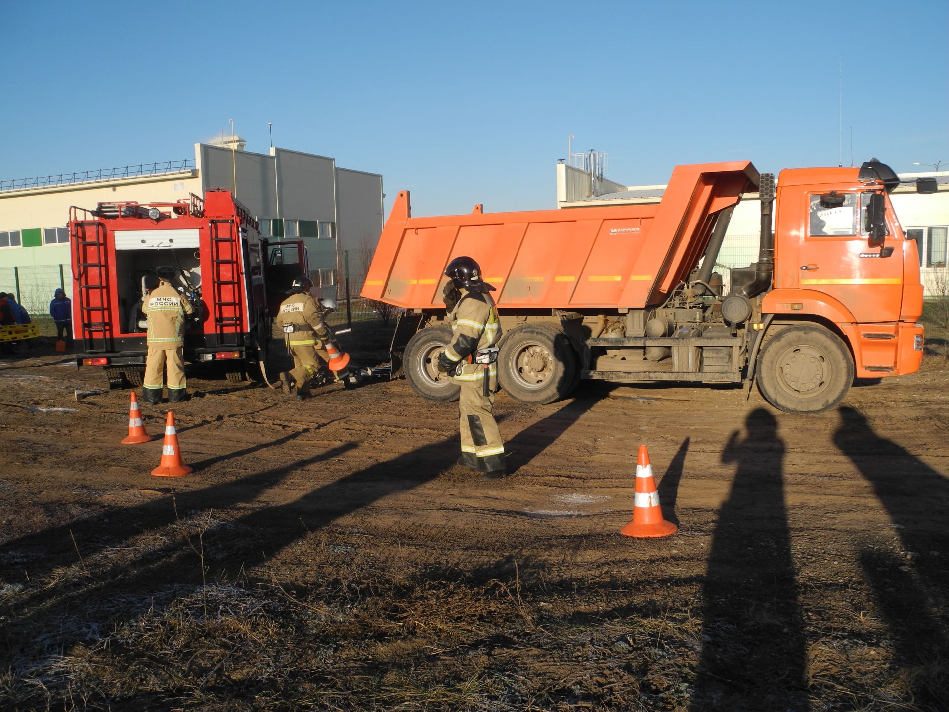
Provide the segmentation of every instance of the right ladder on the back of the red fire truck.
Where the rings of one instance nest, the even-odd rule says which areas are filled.
[[[241,346],[240,242],[233,220],[211,220],[211,278],[214,334],[219,345]]]

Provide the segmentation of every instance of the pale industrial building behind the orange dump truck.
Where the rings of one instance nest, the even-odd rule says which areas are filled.
[[[626,186],[604,178],[605,160],[599,152],[571,154],[571,162],[558,162],[557,207],[583,208],[592,205],[657,203],[665,185]],[[946,295],[949,274],[949,171],[901,173],[900,178],[915,180],[931,176],[939,192],[920,195],[915,185],[901,185],[890,199],[906,234],[915,239],[920,253],[921,282],[927,296]],[[727,286],[731,268],[747,267],[757,259],[760,234],[758,195],[749,193],[735,208],[716,261],[716,272]]]

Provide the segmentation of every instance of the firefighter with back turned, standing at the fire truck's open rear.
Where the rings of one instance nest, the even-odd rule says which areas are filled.
[[[184,294],[172,287],[174,267],[159,267],[155,272],[158,287],[141,303],[141,310],[148,317],[148,357],[141,400],[152,405],[161,402],[163,370],[167,367],[168,403],[179,403],[188,399],[188,384],[184,378],[184,321],[195,309]]]

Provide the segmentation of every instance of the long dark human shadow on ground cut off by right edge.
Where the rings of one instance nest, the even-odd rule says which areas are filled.
[[[949,699],[946,611],[949,604],[949,479],[892,440],[863,413],[840,409],[840,448],[873,487],[902,553],[865,546],[860,563],[894,642],[894,661],[910,682],[917,709],[944,709]]]

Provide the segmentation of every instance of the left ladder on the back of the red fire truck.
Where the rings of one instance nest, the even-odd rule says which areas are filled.
[[[85,353],[112,350],[112,310],[105,249],[105,225],[74,222],[76,282],[79,285],[80,334]],[[102,339],[100,347],[96,340]]]

